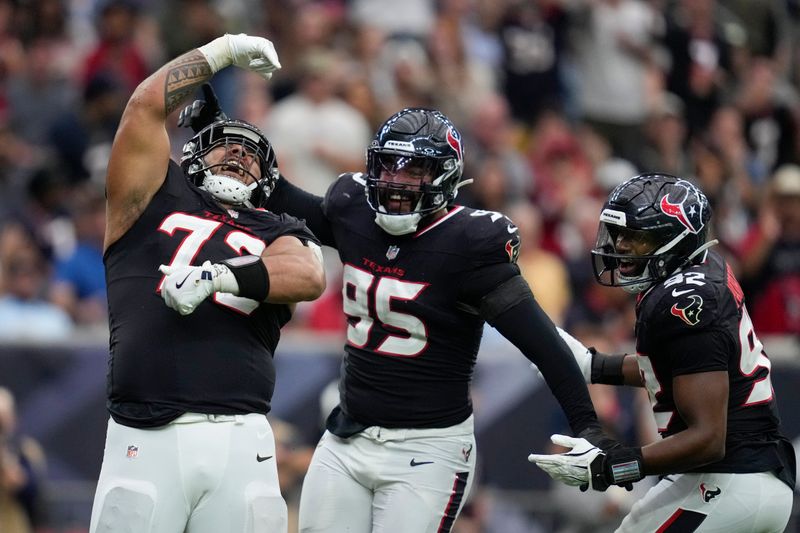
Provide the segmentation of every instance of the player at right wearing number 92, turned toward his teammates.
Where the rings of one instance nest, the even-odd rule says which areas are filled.
[[[555,479],[604,490],[645,475],[660,481],[617,531],[782,532],[795,457],[781,433],[771,364],[730,265],[709,247],[706,196],[674,176],[643,174],[611,192],[600,213],[594,272],[638,295],[636,354],[587,349],[560,331],[587,383],[645,387],[661,440],[601,451],[531,455]]]

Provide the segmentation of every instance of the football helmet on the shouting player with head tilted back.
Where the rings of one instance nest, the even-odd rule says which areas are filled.
[[[225,161],[216,164],[206,162],[208,153],[218,146],[240,145],[242,149],[231,150]],[[261,168],[261,177],[256,178],[249,170],[245,157],[255,157]],[[216,173],[222,167],[235,166],[253,178],[253,182],[243,182]],[[264,134],[242,120],[226,119],[209,124],[189,139],[183,146],[181,167],[189,176],[189,181],[211,193],[217,200],[232,205],[263,207],[278,182],[278,162],[275,151]]]

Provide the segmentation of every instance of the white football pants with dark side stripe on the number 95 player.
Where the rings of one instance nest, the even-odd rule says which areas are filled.
[[[301,533],[447,533],[475,473],[473,419],[442,429],[325,432],[300,497]]]

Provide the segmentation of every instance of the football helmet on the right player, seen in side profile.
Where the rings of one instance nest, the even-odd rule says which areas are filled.
[[[618,185],[600,213],[592,250],[601,285],[636,293],[701,261],[711,208],[690,182],[668,174],[641,174]],[[623,245],[624,244],[624,245]]]

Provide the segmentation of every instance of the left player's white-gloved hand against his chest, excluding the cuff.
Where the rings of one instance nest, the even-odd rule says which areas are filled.
[[[214,292],[214,276],[211,261],[202,266],[158,267],[166,278],[161,286],[161,297],[167,307],[186,316]]]

